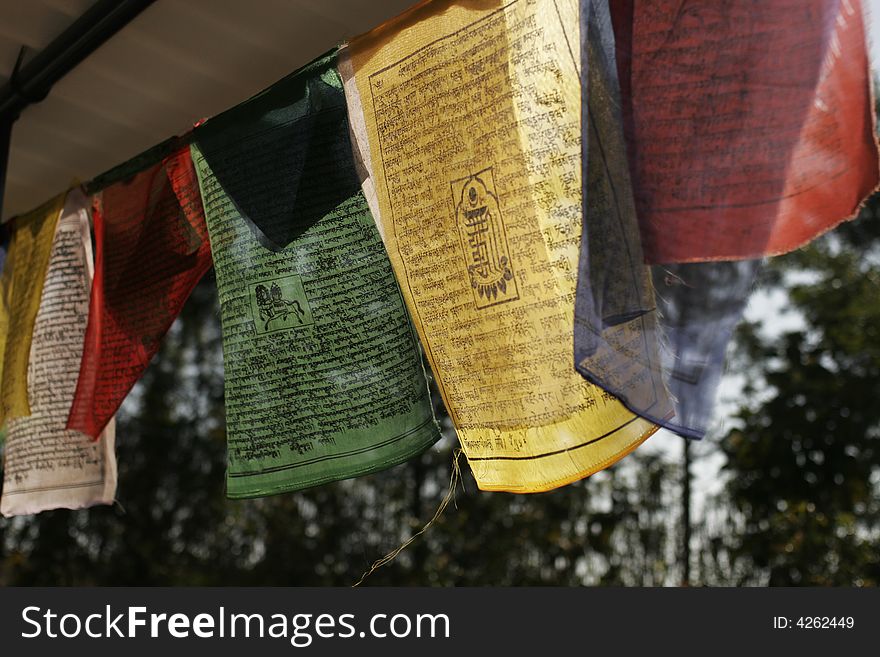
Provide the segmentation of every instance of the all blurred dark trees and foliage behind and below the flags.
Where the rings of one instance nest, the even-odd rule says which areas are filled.
[[[880,201],[864,214],[766,271],[764,289],[784,292],[802,322],[739,332],[742,408],[720,444],[700,446],[724,454],[726,483],[694,500],[693,584],[880,582]],[[409,463],[227,500],[209,277],[119,415],[118,503],[0,519],[0,584],[351,585],[446,494],[456,441],[437,413],[446,437]],[[462,458],[455,504],[366,583],[679,584],[679,446],[658,434],[540,495],[480,492]]]

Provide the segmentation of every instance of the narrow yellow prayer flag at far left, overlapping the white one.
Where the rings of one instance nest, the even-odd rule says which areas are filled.
[[[67,194],[11,220],[9,251],[0,278],[0,426],[30,415],[27,369],[34,322]]]

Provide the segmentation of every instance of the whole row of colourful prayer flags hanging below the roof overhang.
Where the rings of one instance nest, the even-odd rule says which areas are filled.
[[[878,185],[865,42],[859,0],[422,2],[14,218],[0,511],[112,502],[212,266],[231,498],[431,446],[422,349],[483,490],[702,437],[761,258]]]

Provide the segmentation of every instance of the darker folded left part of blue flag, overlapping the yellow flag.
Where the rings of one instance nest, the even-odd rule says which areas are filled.
[[[575,365],[630,409],[667,428],[667,388],[651,272],[633,201],[607,0],[581,0],[583,230]]]

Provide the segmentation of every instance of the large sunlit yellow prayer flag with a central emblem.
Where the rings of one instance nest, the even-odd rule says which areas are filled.
[[[483,490],[605,468],[656,426],[573,367],[577,0],[425,2],[344,50],[364,193]]]

